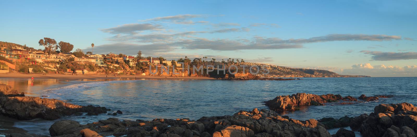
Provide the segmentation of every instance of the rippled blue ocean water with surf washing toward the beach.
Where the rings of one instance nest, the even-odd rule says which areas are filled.
[[[26,95],[49,96],[77,105],[98,105],[121,110],[122,115],[68,116],[60,120],[76,120],[81,124],[116,117],[121,120],[153,120],[155,118],[190,118],[233,115],[239,110],[265,108],[263,102],[279,95],[311,93],[317,95],[340,94],[359,97],[362,94],[394,95],[374,102],[352,105],[329,103],[324,106],[303,107],[299,111],[281,112],[281,115],[298,120],[323,117],[349,117],[373,112],[384,103],[417,103],[417,77],[369,77],[369,78],[304,78],[304,80],[115,80],[115,81],[53,81],[44,84],[25,84],[28,80],[15,81],[15,87],[30,90]],[[23,86],[17,81],[23,81]],[[40,80],[42,81],[42,80]],[[8,82],[10,84],[10,82]],[[49,135],[48,129],[55,121],[24,120],[5,122],[0,132],[25,130],[29,133]],[[3,121],[2,121],[3,120]],[[4,124],[6,123],[6,124]],[[9,124],[7,124],[9,123]],[[12,124],[10,124],[12,123]],[[15,129],[12,129],[15,128]],[[10,130],[8,130],[10,128]],[[1,130],[3,129],[3,130]],[[18,130],[17,130],[18,129]],[[335,133],[337,130],[329,130]]]

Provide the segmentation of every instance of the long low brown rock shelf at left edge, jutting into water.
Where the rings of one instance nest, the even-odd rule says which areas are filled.
[[[0,114],[18,120],[56,120],[79,112],[105,113],[106,107],[73,105],[61,100],[40,97],[0,97]]]

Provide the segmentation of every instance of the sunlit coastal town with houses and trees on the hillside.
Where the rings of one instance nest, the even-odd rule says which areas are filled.
[[[303,68],[281,67],[276,65],[268,65],[262,63],[245,62],[243,59],[226,59],[216,61],[208,57],[194,58],[188,57],[178,60],[166,60],[164,57],[142,57],[139,50],[135,56],[125,54],[93,54],[94,44],[91,44],[91,52],[83,50],[73,50],[73,45],[68,42],[57,42],[54,39],[44,38],[39,42],[40,46],[45,49],[35,49],[26,45],[18,45],[10,42],[0,43],[0,73],[19,72],[19,73],[43,73],[50,74],[70,74],[70,75],[153,75],[153,76],[170,76],[170,77],[186,77],[186,76],[208,76],[203,73],[192,75],[190,72],[182,71],[184,66],[195,65],[202,66],[203,70],[209,65],[216,66],[215,69],[229,68],[231,65],[247,65],[264,67],[269,72],[259,69],[259,77],[367,77],[357,75],[339,75],[327,70],[312,70]],[[181,63],[178,63],[181,62]],[[149,72],[149,66],[154,68],[173,69],[176,73],[163,73],[156,70],[156,74]],[[212,69],[210,67],[210,69]],[[241,68],[238,68],[241,69]],[[247,68],[246,68],[247,69]],[[256,67],[252,68],[256,70]],[[187,70],[185,68],[185,70]],[[256,72],[255,71],[255,72]],[[182,72],[182,73],[181,73]],[[246,71],[247,73],[248,71]]]

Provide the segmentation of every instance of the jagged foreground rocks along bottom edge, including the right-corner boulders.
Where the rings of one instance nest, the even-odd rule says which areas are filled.
[[[51,125],[52,137],[355,137],[340,128],[330,135],[325,127],[350,127],[363,137],[416,137],[417,107],[409,103],[381,104],[371,114],[340,119],[299,121],[281,117],[272,110],[240,111],[231,116],[189,119],[118,120],[109,118],[81,125],[61,120]],[[40,137],[10,134],[10,137]]]

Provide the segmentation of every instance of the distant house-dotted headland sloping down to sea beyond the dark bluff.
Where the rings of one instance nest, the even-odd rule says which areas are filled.
[[[245,62],[245,65],[257,65],[257,66],[266,66],[270,71],[268,75],[262,73],[258,74],[260,77],[369,77],[361,75],[339,75],[335,72],[328,70],[313,70],[313,69],[304,69],[304,68],[291,68],[291,67],[281,67],[276,65],[268,65],[262,63],[251,63]],[[259,67],[261,68],[261,67]],[[267,72],[261,70],[261,72]]]

